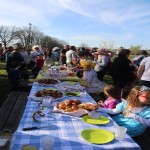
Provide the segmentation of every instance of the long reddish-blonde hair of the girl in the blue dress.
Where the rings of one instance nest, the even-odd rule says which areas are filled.
[[[139,91],[140,91],[141,86],[135,86],[134,88],[131,89],[130,93],[127,96],[127,105],[123,111],[123,114],[126,114],[126,111],[129,109],[131,110],[134,107],[138,107],[139,105]]]

